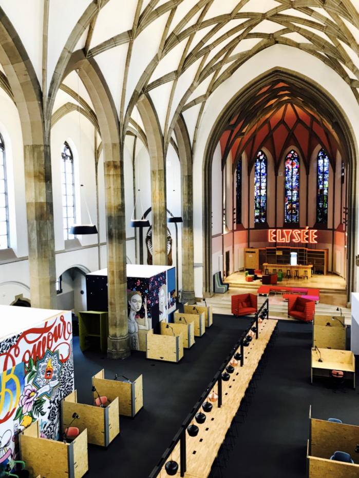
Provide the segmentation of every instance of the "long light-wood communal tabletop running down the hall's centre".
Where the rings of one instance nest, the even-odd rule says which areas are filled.
[[[212,411],[206,413],[206,421],[201,425],[197,424],[199,428],[197,436],[191,437],[187,432],[185,433],[187,463],[185,477],[207,478],[210,474],[212,464],[223,443],[225,434],[231,426],[276,325],[277,321],[274,320],[266,320],[259,324],[258,340],[253,338],[249,347],[244,347],[243,367],[238,363],[229,382],[222,381],[221,408],[218,408],[218,403],[213,404]],[[240,352],[240,348],[238,351]],[[218,391],[217,384],[214,390]],[[169,460],[171,460],[171,457]],[[180,443],[177,444],[172,453],[172,460],[175,460],[178,464],[180,463]],[[164,467],[161,470],[161,475],[167,476]],[[180,477],[180,470],[175,476]]]

